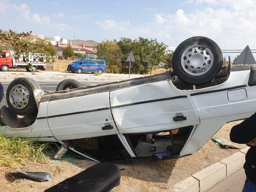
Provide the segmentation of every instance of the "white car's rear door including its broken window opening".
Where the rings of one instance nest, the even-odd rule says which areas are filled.
[[[110,105],[137,160],[166,151],[167,158],[177,158],[199,124],[190,96],[174,92],[167,80],[113,90]]]

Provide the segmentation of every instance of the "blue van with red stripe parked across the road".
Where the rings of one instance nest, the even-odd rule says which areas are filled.
[[[102,74],[103,70],[106,70],[106,63],[105,60],[101,59],[78,58],[74,62],[68,64],[67,70],[72,73],[98,72],[98,74]]]

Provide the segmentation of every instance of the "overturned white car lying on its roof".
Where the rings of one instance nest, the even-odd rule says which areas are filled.
[[[256,66],[229,65],[219,74],[222,54],[212,40],[182,42],[173,68],[46,94],[34,80],[18,78],[8,87],[0,132],[60,142],[95,161],[160,160],[194,154],[223,124],[255,112]]]

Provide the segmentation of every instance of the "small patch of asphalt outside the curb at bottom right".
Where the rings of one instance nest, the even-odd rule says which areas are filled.
[[[244,169],[241,168],[237,172],[228,176],[226,179],[212,186],[206,192],[242,192],[244,181],[246,179]]]

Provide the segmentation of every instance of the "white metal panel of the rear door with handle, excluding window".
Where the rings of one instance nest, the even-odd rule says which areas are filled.
[[[199,123],[188,94],[178,94],[168,81],[110,92],[110,104],[120,133],[150,132]]]

